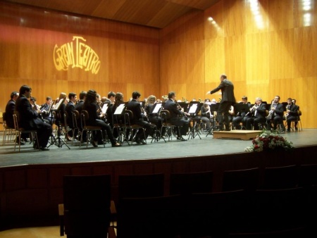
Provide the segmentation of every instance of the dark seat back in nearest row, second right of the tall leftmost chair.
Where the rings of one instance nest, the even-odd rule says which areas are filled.
[[[185,202],[180,237],[226,237],[247,226],[249,204],[243,190],[192,194]]]

